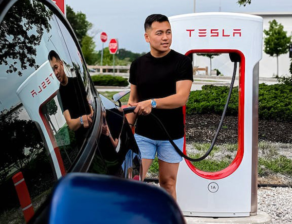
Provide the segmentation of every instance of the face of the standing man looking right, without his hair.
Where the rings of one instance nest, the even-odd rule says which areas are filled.
[[[150,44],[151,51],[157,54],[168,53],[172,40],[169,22],[153,22],[151,28],[146,30],[145,39]]]

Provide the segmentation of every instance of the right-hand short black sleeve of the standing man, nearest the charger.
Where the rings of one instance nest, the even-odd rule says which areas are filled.
[[[193,79],[193,65],[189,57],[183,56],[178,64],[176,81]]]

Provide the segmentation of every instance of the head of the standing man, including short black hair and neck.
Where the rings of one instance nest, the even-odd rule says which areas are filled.
[[[166,16],[152,14],[144,23],[145,39],[153,56],[164,56],[170,51],[172,40],[170,23]]]

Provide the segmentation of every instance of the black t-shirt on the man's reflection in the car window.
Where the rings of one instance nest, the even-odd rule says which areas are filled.
[[[77,77],[68,77],[66,86],[60,84],[59,94],[62,102],[62,112],[68,110],[72,119],[91,113],[84,85],[82,81],[78,81]],[[75,138],[79,146],[84,140],[86,131],[87,129],[83,126],[75,131]]]

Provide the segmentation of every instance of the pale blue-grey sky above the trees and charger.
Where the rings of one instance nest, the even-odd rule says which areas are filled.
[[[196,12],[289,12],[292,0],[252,0],[251,5],[239,6],[237,0],[65,0],[75,12],[81,11],[93,24],[96,50],[102,49],[100,33],[117,38],[119,48],[135,53],[148,52],[144,39],[144,21],[150,14],[167,17]],[[196,2],[196,7],[194,7]]]

